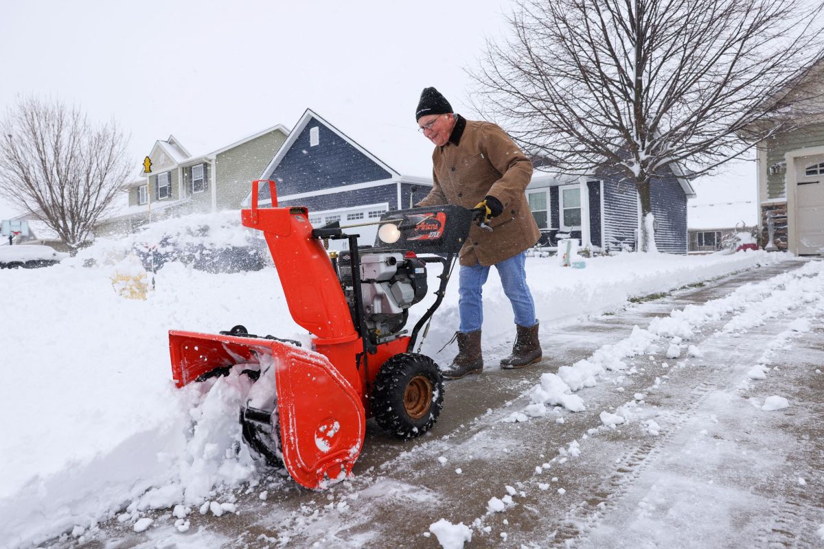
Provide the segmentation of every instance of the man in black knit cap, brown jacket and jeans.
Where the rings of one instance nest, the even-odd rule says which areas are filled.
[[[471,227],[459,254],[458,355],[443,377],[458,379],[484,369],[482,288],[492,265],[498,269],[516,324],[512,355],[501,361],[501,367],[522,368],[540,361],[538,320],[524,270],[524,252],[541,236],[525,193],[531,161],[499,126],[453,113],[449,101],[433,87],[421,93],[415,119],[419,131],[435,144],[434,185],[417,205],[449,203],[484,207],[486,212],[486,226]]]

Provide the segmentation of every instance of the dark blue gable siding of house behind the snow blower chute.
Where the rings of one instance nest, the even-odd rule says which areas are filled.
[[[315,147],[311,147],[309,142],[311,128],[318,128],[319,142]],[[390,172],[314,118],[303,128],[279,165],[271,173],[265,174],[265,179],[278,182],[280,196],[311,193],[391,177]],[[261,190],[260,199],[269,198],[269,189]],[[391,203],[397,203],[397,189]]]

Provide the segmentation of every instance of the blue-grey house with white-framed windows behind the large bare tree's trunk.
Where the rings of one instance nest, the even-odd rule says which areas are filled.
[[[686,206],[695,191],[683,174],[653,179],[651,200],[658,251],[686,254]],[[560,238],[581,240],[593,251],[637,249],[641,204],[632,182],[599,170],[592,177],[537,171],[527,187],[532,216],[554,246]]]

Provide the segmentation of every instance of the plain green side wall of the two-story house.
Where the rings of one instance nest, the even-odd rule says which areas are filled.
[[[241,202],[249,194],[251,182],[260,178],[284,141],[286,136],[274,130],[216,156],[218,211],[241,207]],[[211,201],[211,192],[208,195]]]

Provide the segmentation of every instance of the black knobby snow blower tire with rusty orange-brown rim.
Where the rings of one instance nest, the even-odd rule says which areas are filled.
[[[443,404],[443,379],[428,356],[402,353],[384,362],[372,386],[372,415],[399,439],[432,428]]]

